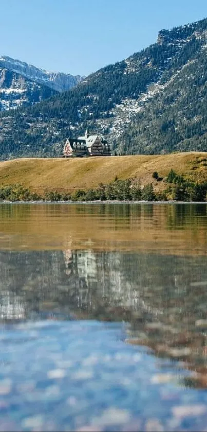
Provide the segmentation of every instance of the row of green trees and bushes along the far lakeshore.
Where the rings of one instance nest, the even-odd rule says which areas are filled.
[[[153,178],[159,182],[163,179],[158,172]],[[131,180],[119,180],[117,177],[109,184],[100,183],[99,187],[91,189],[76,189],[72,193],[60,193],[46,189],[43,194],[30,191],[21,184],[0,186],[0,201],[205,201],[207,183],[195,183],[184,179],[173,169],[163,180],[166,188],[156,193],[152,183],[141,187],[140,183]]]

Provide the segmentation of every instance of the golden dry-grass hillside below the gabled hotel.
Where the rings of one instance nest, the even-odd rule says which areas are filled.
[[[152,178],[154,171],[165,177],[171,168],[194,181],[207,181],[207,153],[186,152],[167,155],[135,155],[83,159],[16,159],[0,162],[0,185],[21,183],[31,191],[72,192],[97,187],[115,179],[133,179],[141,185],[153,183],[155,191],[166,185]]]

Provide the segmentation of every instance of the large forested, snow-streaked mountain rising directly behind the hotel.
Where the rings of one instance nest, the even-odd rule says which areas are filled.
[[[205,151],[206,52],[207,19],[161,30],[155,44],[71,90],[2,113],[1,159],[60,155],[86,124],[119,154]]]

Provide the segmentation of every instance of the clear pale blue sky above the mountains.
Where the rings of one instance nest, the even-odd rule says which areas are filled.
[[[0,0],[0,55],[88,75],[207,16],[206,0]]]

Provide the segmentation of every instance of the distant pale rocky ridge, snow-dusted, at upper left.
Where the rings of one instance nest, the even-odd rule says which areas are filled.
[[[48,85],[48,87],[58,92],[71,89],[83,79],[80,75],[73,76],[60,72],[48,72],[7,56],[0,57],[0,67],[21,74],[36,83]]]

